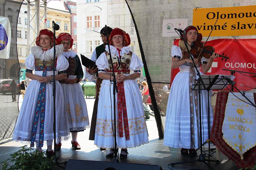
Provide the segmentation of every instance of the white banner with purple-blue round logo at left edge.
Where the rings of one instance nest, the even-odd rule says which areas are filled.
[[[11,26],[9,18],[0,16],[0,58],[9,59]]]

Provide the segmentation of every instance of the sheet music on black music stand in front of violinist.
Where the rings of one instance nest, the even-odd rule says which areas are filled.
[[[209,87],[209,85],[211,84],[211,82],[213,81],[215,76],[216,75],[205,75],[205,74],[201,75],[202,80],[204,81],[204,85],[205,85],[206,89]],[[218,78],[214,82],[214,84],[212,85],[211,89],[224,89],[225,85],[229,85],[228,81],[225,80],[225,79],[222,79],[221,76],[227,77],[227,78],[229,78],[232,81],[236,78],[233,75],[222,75],[222,74],[220,74],[220,75],[218,75]],[[197,90],[198,89],[198,82],[196,84],[193,84],[193,86],[194,86],[193,89]],[[201,84],[201,89],[204,89],[204,86],[202,84]]]

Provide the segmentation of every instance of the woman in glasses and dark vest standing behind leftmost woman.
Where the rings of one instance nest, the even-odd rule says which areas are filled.
[[[64,47],[63,55],[69,63],[67,69],[67,78],[61,80],[61,87],[64,93],[64,101],[68,113],[69,131],[72,136],[72,147],[75,150],[81,149],[77,142],[77,133],[89,128],[89,117],[86,103],[84,100],[83,90],[80,81],[84,76],[80,59],[76,52],[68,50],[73,45],[73,39],[69,33],[60,33],[58,40],[62,42]],[[75,75],[75,79],[69,79],[70,75]],[[57,145],[57,150],[61,149],[61,143]]]

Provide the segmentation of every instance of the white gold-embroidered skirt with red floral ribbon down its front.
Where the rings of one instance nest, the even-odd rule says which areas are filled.
[[[148,131],[140,90],[135,80],[124,81],[124,93],[129,125],[130,140],[125,139],[124,119],[123,137],[119,137],[117,94],[116,94],[116,143],[118,148],[132,148],[148,143]],[[98,147],[114,148],[114,109],[113,84],[103,80],[100,87],[97,122],[94,144]]]

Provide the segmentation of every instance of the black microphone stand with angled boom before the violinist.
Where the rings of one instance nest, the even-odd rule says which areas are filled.
[[[176,30],[175,30],[176,31]],[[177,32],[177,31],[176,31]],[[178,33],[178,32],[177,32]],[[178,33],[179,34],[179,33]],[[180,32],[180,35],[182,34],[182,32]],[[205,165],[207,165],[210,169],[212,169],[213,170],[213,168],[210,166],[210,161],[214,161],[214,162],[218,162],[217,160],[215,161],[215,160],[208,160],[208,162],[209,163],[207,163],[206,162],[206,159],[205,159],[205,156],[204,156],[204,154],[203,154],[203,142],[202,142],[202,119],[201,119],[201,85],[203,85],[203,87],[204,87],[204,89],[206,89],[205,88],[205,84],[204,84],[204,81],[203,81],[203,79],[202,79],[202,77],[201,77],[201,74],[200,74],[200,72],[199,72],[199,70],[197,69],[197,67],[196,67],[196,63],[195,63],[195,61],[194,61],[194,58],[193,58],[193,56],[191,55],[191,53],[190,53],[190,51],[189,51],[189,49],[188,49],[188,44],[187,44],[187,42],[185,42],[184,41],[184,39],[183,39],[183,37],[182,36],[180,36],[181,37],[181,39],[183,40],[183,42],[184,42],[184,44],[185,44],[185,46],[186,46],[186,48],[187,48],[187,51],[188,51],[188,54],[189,54],[189,57],[190,57],[190,59],[192,60],[192,62],[193,62],[193,65],[194,65],[194,67],[195,67],[195,69],[196,69],[196,73],[197,73],[197,75],[198,75],[198,79],[196,80],[196,81],[198,81],[198,109],[199,109],[199,126],[200,126],[200,155],[199,155],[199,157],[198,157],[198,159],[195,159],[195,160],[190,160],[190,161],[184,161],[184,162],[176,162],[176,163],[171,163],[171,165],[173,166],[173,165],[177,165],[177,164],[184,164],[184,163],[189,163],[189,162],[197,162],[197,161],[199,161],[199,162],[203,162]],[[210,119],[209,119],[209,91],[208,91],[208,138],[210,137],[210,135],[209,135],[209,133],[210,133]],[[208,142],[209,142],[209,151],[210,151],[210,140],[208,139]],[[210,157],[210,155],[208,155],[208,157]],[[170,164],[169,164],[170,165]]]

